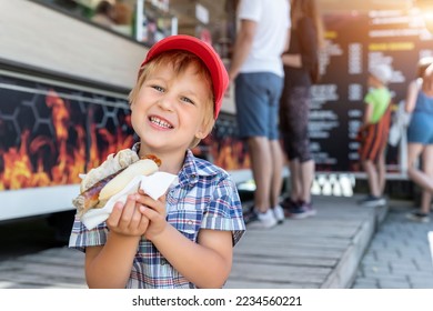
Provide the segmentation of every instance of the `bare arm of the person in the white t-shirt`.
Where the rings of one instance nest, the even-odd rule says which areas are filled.
[[[253,39],[255,36],[256,22],[252,20],[242,20],[240,30],[234,41],[233,57],[230,64],[229,78],[232,82],[239,74],[243,62],[251,51]]]

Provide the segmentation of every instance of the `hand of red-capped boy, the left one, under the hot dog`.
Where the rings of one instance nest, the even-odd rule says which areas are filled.
[[[107,220],[110,231],[122,235],[141,237],[149,227],[149,219],[140,212],[140,195],[132,194],[128,197],[124,204],[118,202]]]

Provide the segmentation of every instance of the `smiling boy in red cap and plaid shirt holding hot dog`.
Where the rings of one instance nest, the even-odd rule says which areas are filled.
[[[130,93],[139,157],[161,159],[179,183],[153,200],[140,192],[87,230],[77,219],[70,247],[85,251],[89,288],[221,288],[244,233],[235,184],[191,148],[219,114],[228,73],[207,43],[189,36],[154,44]]]

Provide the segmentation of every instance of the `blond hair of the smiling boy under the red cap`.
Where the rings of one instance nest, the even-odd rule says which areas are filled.
[[[204,127],[203,134],[204,137],[208,136],[212,131],[212,128],[215,123],[215,120],[213,118],[214,96],[212,89],[212,78],[211,78],[211,73],[209,72],[209,69],[204,66],[201,59],[188,51],[182,51],[182,50],[167,51],[154,57],[152,60],[145,63],[144,67],[140,69],[141,71],[138,81],[133,87],[133,89],[131,90],[131,92],[129,93],[128,99],[130,106],[133,104],[138,99],[140,89],[143,86],[144,81],[148,79],[148,77],[153,72],[155,72],[161,66],[165,66],[165,64],[172,66],[174,74],[177,77],[183,74],[187,71],[187,69],[189,69],[190,67],[193,67],[197,70],[195,73],[199,74],[202,81],[205,82],[209,98],[204,104],[204,114],[203,114],[202,122]],[[190,144],[190,148],[194,148],[195,146],[198,146],[201,139],[202,138],[194,137],[194,139]]]

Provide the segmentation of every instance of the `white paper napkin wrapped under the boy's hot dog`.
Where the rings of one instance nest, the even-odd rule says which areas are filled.
[[[138,192],[141,188],[145,194],[153,200],[158,200],[177,180],[175,174],[165,172],[154,172],[151,175],[139,175],[131,180],[127,187],[110,198],[107,204],[100,209],[91,209],[81,217],[82,223],[87,229],[92,230],[98,224],[105,221],[117,202],[127,202],[128,195]]]

